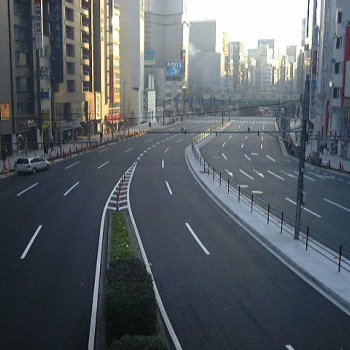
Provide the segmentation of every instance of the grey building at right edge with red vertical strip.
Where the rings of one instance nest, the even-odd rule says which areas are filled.
[[[309,124],[316,141],[350,159],[350,4],[313,0],[305,22],[304,74],[311,77]]]

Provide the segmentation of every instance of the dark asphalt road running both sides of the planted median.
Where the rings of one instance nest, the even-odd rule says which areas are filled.
[[[131,205],[184,349],[345,349],[349,317],[240,229],[184,159],[192,120],[0,182],[1,349],[86,349],[105,201]],[[142,154],[142,156],[141,156]],[[24,192],[25,191],[25,192]]]

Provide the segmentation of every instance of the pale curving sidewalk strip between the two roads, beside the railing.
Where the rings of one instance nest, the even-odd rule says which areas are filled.
[[[201,142],[195,146],[196,152]],[[267,220],[266,210],[257,205],[253,209],[250,199],[243,195],[238,197],[239,192],[236,189],[232,188],[228,194],[227,183],[222,181],[220,186],[219,179],[213,178],[211,171],[208,176],[203,171],[203,166],[197,162],[192,145],[186,148],[186,161],[202,188],[235,222],[310,286],[350,315],[349,260],[342,257],[344,266],[338,272],[339,256],[336,252],[328,250],[324,253],[326,257],[323,256],[317,248],[321,245],[307,241],[304,234],[300,235],[299,240],[295,240],[293,227],[288,225],[283,226],[281,234],[281,222],[278,218],[271,215]],[[309,242],[309,246],[306,242]]]

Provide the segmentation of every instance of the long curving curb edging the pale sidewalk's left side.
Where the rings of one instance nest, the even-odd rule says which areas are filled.
[[[334,305],[340,308],[343,312],[350,316],[350,302],[336,293],[334,290],[330,289],[324,283],[319,281],[315,276],[306,271],[300,264],[296,263],[286,254],[284,254],[278,247],[271,244],[264,236],[260,235],[259,232],[249,225],[248,222],[241,219],[237,214],[235,214],[225,203],[223,203],[214,192],[211,192],[206,186],[205,182],[198,176],[196,170],[193,168],[192,163],[189,159],[189,152],[191,152],[191,145],[185,150],[185,158],[187,167],[192,173],[193,177],[203,188],[203,190],[209,195],[214,202],[219,205],[219,207],[224,210],[224,212],[234,220],[242,229],[244,229],[251,237],[256,239],[264,248],[266,248],[271,254],[277,257],[282,263],[289,267],[294,273],[296,273],[300,278],[307,282],[311,287],[315,288],[320,294],[330,300]]]

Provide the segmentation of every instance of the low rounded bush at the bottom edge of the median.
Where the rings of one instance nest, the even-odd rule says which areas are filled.
[[[110,350],[169,350],[169,347],[160,336],[125,335],[113,342]]]

